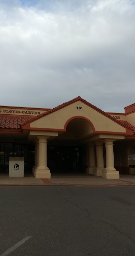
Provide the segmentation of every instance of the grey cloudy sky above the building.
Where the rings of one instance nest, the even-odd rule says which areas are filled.
[[[135,0],[0,0],[0,105],[135,103]]]

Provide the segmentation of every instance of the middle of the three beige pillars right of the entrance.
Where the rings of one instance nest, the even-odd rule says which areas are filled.
[[[102,176],[104,170],[103,142],[96,142],[97,167],[93,171],[93,175]]]

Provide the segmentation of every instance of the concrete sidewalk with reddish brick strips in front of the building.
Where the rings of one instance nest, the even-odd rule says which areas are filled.
[[[35,179],[33,175],[27,177],[8,177],[0,175],[0,185],[74,185],[74,186],[117,186],[135,185],[135,176],[120,175],[120,179],[103,179],[92,175],[52,175],[51,179]]]

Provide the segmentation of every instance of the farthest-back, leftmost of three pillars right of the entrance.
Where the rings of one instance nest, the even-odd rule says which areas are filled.
[[[86,173],[88,174],[93,174],[93,170],[96,168],[94,148],[94,143],[88,144],[89,166],[86,169]]]

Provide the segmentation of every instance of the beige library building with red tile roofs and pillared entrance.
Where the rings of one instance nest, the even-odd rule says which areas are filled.
[[[0,106],[0,175],[135,174],[135,104],[124,110],[104,112],[80,96],[53,109]]]

